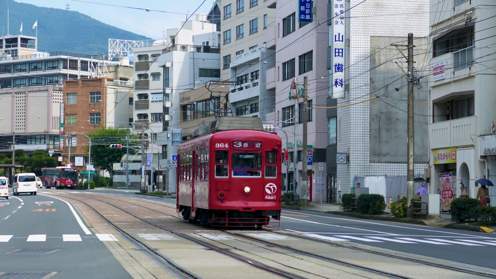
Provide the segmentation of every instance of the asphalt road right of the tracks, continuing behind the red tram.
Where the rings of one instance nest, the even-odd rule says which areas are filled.
[[[116,195],[175,205],[175,199],[139,196],[135,190],[97,190],[95,195]],[[282,229],[309,237],[356,242],[458,263],[494,268],[496,235],[422,225],[342,217],[309,211],[283,210]]]

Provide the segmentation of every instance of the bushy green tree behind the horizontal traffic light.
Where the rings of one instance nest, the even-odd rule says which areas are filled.
[[[107,170],[112,173],[112,164],[121,161],[126,153],[125,148],[110,148],[110,144],[126,144],[127,129],[122,127],[102,127],[88,133],[91,139],[91,162],[96,168]],[[137,139],[135,134],[130,134],[129,139]],[[129,145],[137,145],[136,141],[129,141]],[[88,152],[88,146],[83,147]],[[129,154],[135,154],[135,150],[129,150]]]

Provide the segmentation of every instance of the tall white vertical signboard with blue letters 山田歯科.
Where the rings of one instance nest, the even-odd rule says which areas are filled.
[[[332,98],[345,97],[345,0],[332,0]]]

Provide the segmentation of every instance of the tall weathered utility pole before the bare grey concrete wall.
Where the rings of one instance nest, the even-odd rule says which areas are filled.
[[[414,134],[414,122],[413,122],[413,33],[408,33],[408,71],[407,71],[407,76],[408,76],[408,120],[407,120],[407,129],[408,129],[408,153],[407,153],[407,160],[408,160],[408,171],[407,171],[407,217],[411,218],[413,215],[412,209],[410,209],[410,201],[413,198],[413,192],[414,192],[414,181],[413,181],[413,176],[414,176],[414,139],[413,139],[413,134]]]

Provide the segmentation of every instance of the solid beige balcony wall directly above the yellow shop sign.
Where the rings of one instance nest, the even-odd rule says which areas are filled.
[[[474,145],[471,135],[477,135],[477,116],[429,124],[431,149]]]

